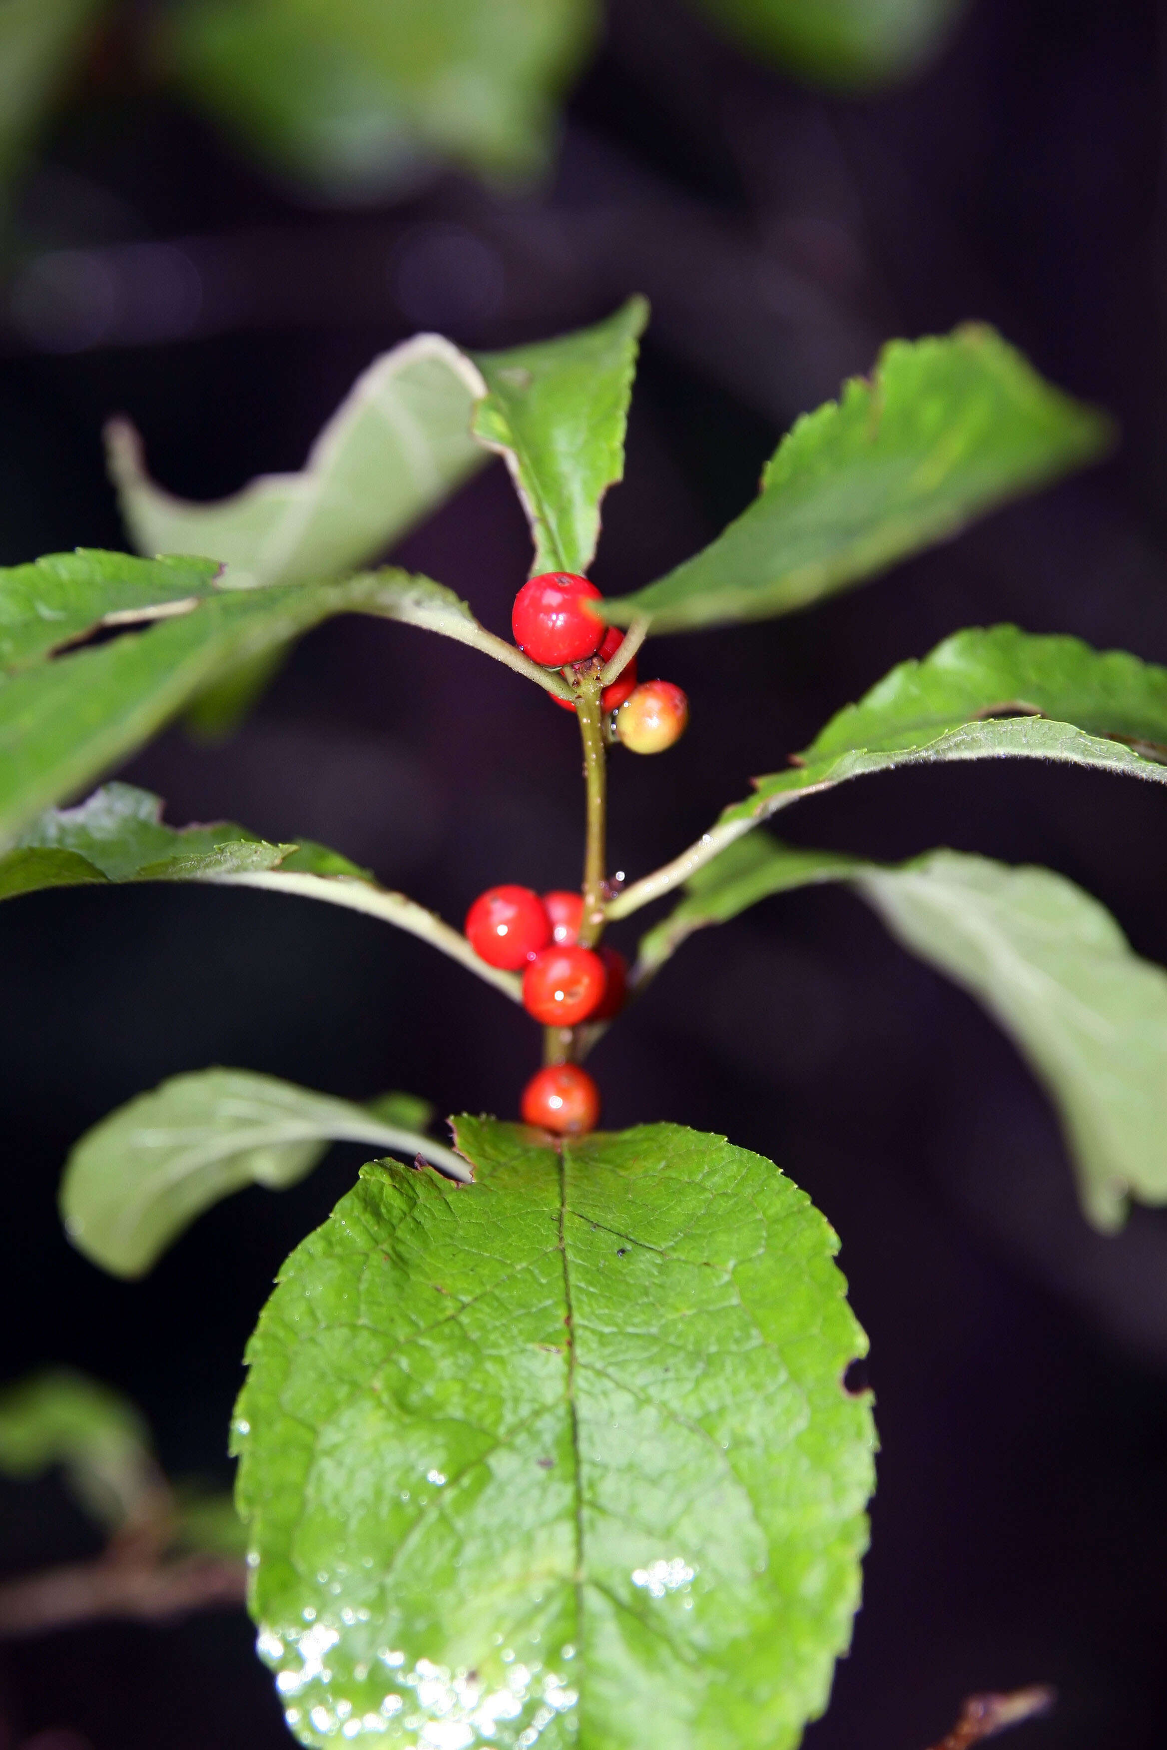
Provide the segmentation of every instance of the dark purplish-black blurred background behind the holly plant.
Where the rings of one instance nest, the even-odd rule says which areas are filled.
[[[593,572],[628,590],[744,508],[780,430],[880,340],[983,317],[1120,418],[1116,458],[810,614],[651,646],[642,674],[689,691],[693,726],[663,760],[614,758],[612,866],[639,875],[674,854],[752,772],[962,625],[1015,620],[1164,662],[1164,24],[1146,0],[976,0],[926,77],[856,102],[759,70],[668,0],[619,0],[548,191],[504,200],[434,177],[345,215],[299,203],[178,108],[98,82],[58,124],[21,222],[136,275],[136,303],[91,336],[12,304],[0,560],[122,544],[98,443],[110,411],[138,422],[164,485],[213,497],[297,467],[357,371],[418,327],[495,346],[646,290],[628,474]],[[150,275],[166,256],[126,250],[173,240],[205,298],[159,324]],[[502,467],[399,556],[504,632],[528,542]],[[506,670],[345,621],[297,649],[234,742],[170,732],[126,775],[175,822],[226,814],[322,838],[458,919],[495,880],[577,880],[577,768],[570,721]],[[782,824],[884,858],[948,844],[1048,863],[1167,961],[1153,786],[948,766],[845,786]],[[509,1115],[534,1029],[409,938],[262,894],[26,898],[0,915],[0,966],[3,1374],[68,1362],[107,1377],[145,1407],[171,1470],[226,1480],[247,1334],[359,1153],[336,1150],[285,1195],[234,1199],[121,1284],[59,1234],[70,1143],[215,1062]],[[595,1068],[612,1127],[728,1132],[780,1162],[843,1239],[871,1335],[880,1489],[854,1650],[807,1743],[920,1750],[968,1690],[1046,1680],[1059,1710],[1018,1750],[1160,1745],[1167,1214],[1092,1234],[1011,1046],[843,892],[775,900],[698,938]],[[9,1572],[89,1547],[52,1482],[0,1508]],[[250,1640],[222,1615],[9,1645],[0,1750],[287,1743]]]

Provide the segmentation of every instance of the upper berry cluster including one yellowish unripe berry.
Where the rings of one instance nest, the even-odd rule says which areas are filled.
[[[618,626],[605,626],[588,602],[602,595],[586,578],[567,570],[548,570],[532,578],[514,597],[511,630],[514,642],[544,668],[569,668],[598,656],[611,662],[623,642]],[[556,698],[563,710],[576,707]],[[633,754],[660,754],[684,733],[689,702],[670,681],[637,684],[635,656],[600,695],[605,712],[614,712],[618,738]]]

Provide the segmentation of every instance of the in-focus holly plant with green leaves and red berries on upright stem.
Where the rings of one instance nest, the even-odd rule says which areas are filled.
[[[1013,1036],[1094,1223],[1116,1227],[1129,1197],[1167,1200],[1167,973],[1095,900],[1045,868],[945,849],[889,866],[766,831],[803,796],[929,761],[1165,782],[1167,668],[1013,625],[957,632],[808,747],[761,751],[777,768],[663,868],[614,882],[605,861],[609,758],[663,752],[688,718],[675,686],[639,679],[647,637],[849,588],[1094,460],[1108,422],[987,327],[892,341],[794,425],[705,551],[602,598],[588,569],[644,318],[633,299],[584,332],[474,357],[420,336],[371,366],[301,474],[220,504],[164,494],[115,425],[145,556],[0,572],[5,896],[182,880],[352,906],[542,1027],[542,1068],[532,1032],[500,1088],[506,1116],[451,1118],[448,1139],[418,1097],[357,1104],[210,1069],[112,1113],[66,1166],[73,1242],[133,1278],[212,1202],[292,1185],[332,1139],[376,1157],[280,1270],[231,1428],[259,1654],[306,1745],[782,1750],[826,1706],[875,1451],[870,1396],[843,1384],[864,1337],[836,1237],[777,1166],[721,1136],[597,1129],[584,1068],[695,929],[847,884]],[[490,452],[534,539],[513,637],[429,578],[362,569]],[[343,847],[175,828],[117,782],[65,805],[177,714],[227,732],[290,640],[353,612],[469,644],[576,712],[577,892],[499,870],[458,929]],[[698,752],[700,724],[696,696],[670,760]],[[660,901],[626,966],[607,926]],[[992,1729],[1025,1712],[1010,1706]],[[961,1743],[990,1729],[976,1718]]]

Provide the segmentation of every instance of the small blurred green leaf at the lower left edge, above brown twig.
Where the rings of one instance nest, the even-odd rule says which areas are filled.
[[[31,1479],[52,1465],[63,1466],[72,1493],[108,1531],[149,1512],[161,1484],[133,1404],[66,1368],[0,1393],[0,1472]]]

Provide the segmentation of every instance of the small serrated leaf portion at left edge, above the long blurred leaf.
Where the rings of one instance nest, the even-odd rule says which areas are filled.
[[[14,676],[101,626],[187,614],[219,586],[205,558],[49,553],[0,569],[0,674]]]

